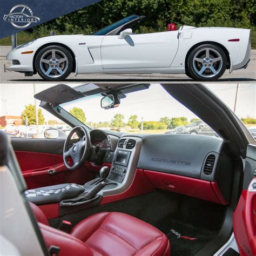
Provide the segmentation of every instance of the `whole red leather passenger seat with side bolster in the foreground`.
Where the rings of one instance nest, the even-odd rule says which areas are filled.
[[[80,221],[65,233],[48,224],[39,207],[31,204],[46,246],[64,255],[170,255],[170,242],[156,227],[125,213],[102,212]]]

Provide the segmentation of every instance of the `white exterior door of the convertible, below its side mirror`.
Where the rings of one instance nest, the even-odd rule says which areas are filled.
[[[177,36],[178,31],[131,35],[124,39],[105,36],[101,49],[103,69],[168,68],[178,50]]]

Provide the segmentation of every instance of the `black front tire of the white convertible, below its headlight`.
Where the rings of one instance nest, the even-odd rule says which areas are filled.
[[[55,52],[56,58],[51,58],[52,52]],[[42,57],[43,57],[43,60],[46,60],[49,62],[51,61],[51,62],[43,63],[41,61]],[[58,58],[66,59],[66,60],[62,63],[58,63],[58,60],[59,60]],[[53,59],[54,59],[54,63],[53,63]],[[71,53],[63,46],[49,45],[49,46],[45,46],[42,50],[38,52],[35,60],[35,66],[39,76],[41,76],[44,80],[62,81],[65,78],[67,78],[73,70],[73,58]],[[47,72],[45,73],[45,71],[48,71],[48,69],[50,68],[52,70],[48,75]],[[63,74],[60,72],[63,72]]]

